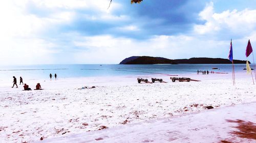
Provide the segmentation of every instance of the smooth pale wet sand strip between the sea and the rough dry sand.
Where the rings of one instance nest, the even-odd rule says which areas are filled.
[[[123,76],[92,76],[92,77],[64,77],[64,78],[57,78],[57,80],[55,80],[54,78],[52,78],[52,80],[50,80],[50,78],[38,78],[38,79],[28,79],[25,80],[24,83],[28,82],[28,84],[36,84],[38,82],[40,83],[49,83],[49,82],[53,82],[53,81],[81,81],[81,80],[85,80],[85,81],[89,81],[89,83],[94,83],[93,81],[97,80],[99,82],[96,83],[100,83],[100,85],[103,85],[103,83],[110,83],[108,81],[111,82],[119,82],[119,81],[123,81],[125,79],[127,79],[127,82],[129,83],[134,83],[134,81],[136,81],[137,78],[163,78],[165,79],[167,82],[171,82],[169,80],[169,77],[189,77],[189,78],[197,78],[198,80],[215,80],[215,79],[228,79],[230,77],[230,79],[232,79],[232,74],[231,73],[227,73],[227,74],[220,74],[220,73],[209,73],[208,75],[202,75],[202,73],[199,73],[199,75],[197,73],[184,73],[184,74],[148,74],[148,75],[123,75]],[[134,78],[134,81],[132,81]],[[241,78],[251,78],[250,75],[246,74],[246,72],[236,72],[236,78],[237,79],[241,79]],[[113,80],[114,79],[114,80]],[[0,79],[0,89],[5,87],[11,87],[12,86],[12,77],[10,77],[10,80],[7,79]],[[101,80],[101,82],[100,82]],[[151,79],[150,79],[151,80]],[[36,83],[35,83],[36,82]],[[84,82],[86,83],[86,82]],[[17,85],[19,87],[18,81],[17,81]]]

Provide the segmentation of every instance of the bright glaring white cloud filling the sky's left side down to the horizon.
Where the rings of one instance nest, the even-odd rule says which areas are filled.
[[[26,2],[3,1],[0,5],[0,64],[7,64],[7,60],[8,64],[51,63],[51,54],[56,52],[57,45],[40,34],[69,22],[73,15],[56,12],[51,17],[37,17],[24,11]]]

